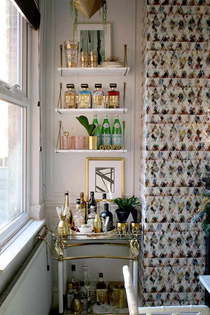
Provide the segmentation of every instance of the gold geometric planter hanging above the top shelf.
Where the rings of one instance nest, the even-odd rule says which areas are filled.
[[[86,18],[91,18],[104,5],[104,0],[75,0],[73,6]]]

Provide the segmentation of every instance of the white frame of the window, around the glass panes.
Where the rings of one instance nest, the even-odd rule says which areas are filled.
[[[22,178],[23,178],[23,212],[20,213],[14,220],[9,222],[0,232],[0,251],[1,247],[5,245],[13,236],[15,232],[18,232],[27,221],[30,220],[30,215],[26,212],[26,115],[27,115],[27,106],[30,105],[30,100],[27,97],[27,53],[28,53],[28,28],[26,21],[19,13],[20,23],[20,34],[22,37],[19,38],[20,43],[20,52],[22,51],[22,58],[20,58],[20,66],[22,71],[20,71],[20,86],[21,88],[9,89],[6,86],[10,85],[9,83],[0,79],[0,99],[12,103],[23,108],[23,132],[22,132]],[[30,30],[29,30],[30,31]]]

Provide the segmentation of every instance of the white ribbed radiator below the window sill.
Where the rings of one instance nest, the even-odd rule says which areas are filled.
[[[39,241],[0,299],[0,315],[48,315],[53,298],[52,258]]]

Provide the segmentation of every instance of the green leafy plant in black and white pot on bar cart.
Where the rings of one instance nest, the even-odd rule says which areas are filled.
[[[138,209],[135,207],[139,205],[139,198],[115,198],[114,203],[118,206],[115,210],[116,222],[118,221],[127,221],[128,229],[130,229],[130,223],[132,221],[137,221]]]

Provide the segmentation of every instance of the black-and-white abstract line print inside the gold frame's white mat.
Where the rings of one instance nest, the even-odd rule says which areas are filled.
[[[114,167],[96,167],[95,168],[95,192],[114,192]]]

